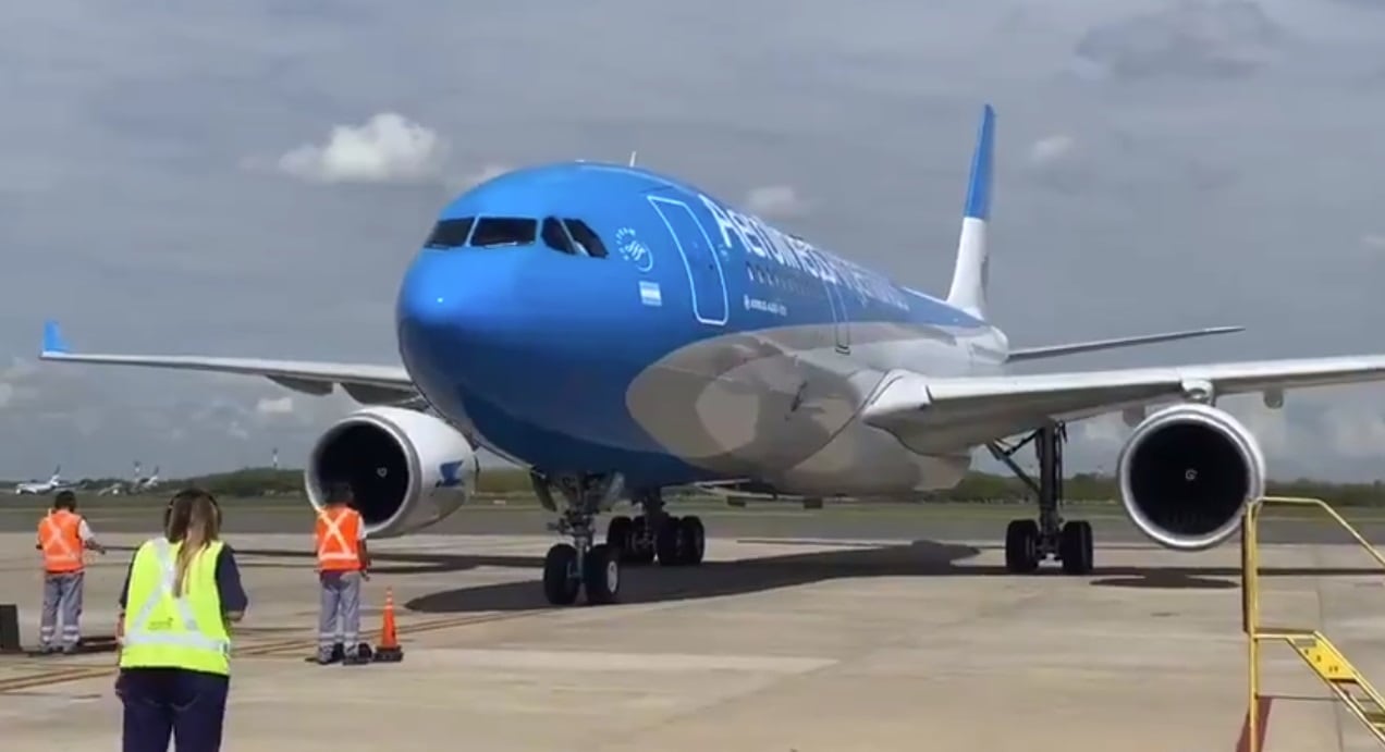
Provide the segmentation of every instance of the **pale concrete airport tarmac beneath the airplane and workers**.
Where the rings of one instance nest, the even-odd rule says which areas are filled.
[[[897,521],[875,539],[760,528],[792,514],[805,512],[705,514],[706,565],[626,568],[625,602],[600,608],[546,607],[536,580],[553,539],[518,535],[529,512],[490,512],[510,515],[496,518],[511,521],[507,535],[377,541],[366,626],[378,629],[391,587],[406,655],[360,668],[302,661],[317,615],[305,533],[233,523],[252,605],[223,748],[1018,751],[1039,738],[1069,752],[1235,749],[1234,546],[1174,554],[1098,537],[1091,576],[1011,576],[994,521],[971,540],[957,535],[971,522],[939,519],[917,539]],[[87,634],[109,632],[127,547],[143,537],[104,528],[126,548],[89,572]],[[1296,543],[1265,558],[1267,622],[1323,625],[1385,677],[1385,578],[1364,553]],[[19,602],[30,640],[37,584],[32,533],[0,535],[0,601]],[[0,656],[7,751],[109,749],[112,662]],[[1288,648],[1269,648],[1266,672],[1277,695],[1267,751],[1368,748]]]

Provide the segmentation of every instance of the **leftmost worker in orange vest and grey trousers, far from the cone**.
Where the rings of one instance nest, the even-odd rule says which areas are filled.
[[[72,655],[82,643],[82,590],[86,579],[83,554],[87,548],[105,553],[86,519],[76,512],[78,497],[71,490],[58,492],[47,517],[39,521],[43,551],[43,615],[39,619],[39,652],[58,651],[54,632],[61,615],[62,652]]]

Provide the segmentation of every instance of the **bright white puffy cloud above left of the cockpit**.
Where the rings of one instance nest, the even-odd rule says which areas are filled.
[[[334,126],[325,144],[303,144],[277,166],[312,183],[425,183],[439,177],[449,148],[432,129],[381,112],[360,126]]]

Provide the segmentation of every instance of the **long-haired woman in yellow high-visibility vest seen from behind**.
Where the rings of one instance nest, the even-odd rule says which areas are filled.
[[[217,752],[230,690],[230,623],[248,607],[212,494],[181,490],[162,537],[134,553],[120,596],[123,752]]]

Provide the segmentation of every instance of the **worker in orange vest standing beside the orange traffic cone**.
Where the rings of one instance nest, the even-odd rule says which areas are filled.
[[[342,645],[342,665],[367,662],[359,650],[360,580],[370,576],[370,554],[366,525],[352,501],[349,483],[332,483],[327,489],[327,504],[317,512],[317,579],[323,593],[317,662],[324,666],[337,661],[338,644]]]

